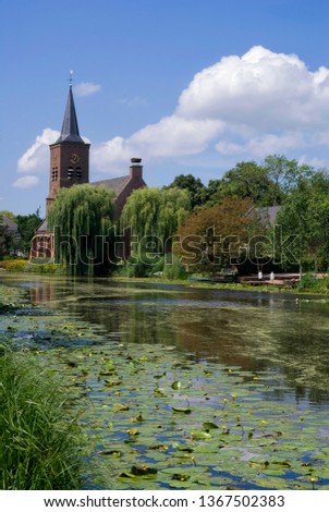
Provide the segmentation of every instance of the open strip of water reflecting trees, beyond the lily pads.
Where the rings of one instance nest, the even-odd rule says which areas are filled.
[[[83,316],[122,343],[170,344],[195,361],[271,370],[297,401],[329,400],[327,301],[108,280],[36,278],[25,285],[34,304]],[[270,393],[280,400],[275,383]]]

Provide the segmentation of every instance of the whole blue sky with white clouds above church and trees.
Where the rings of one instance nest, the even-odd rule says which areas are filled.
[[[149,186],[285,155],[329,168],[326,0],[0,0],[0,209],[48,193],[74,71],[90,181]]]

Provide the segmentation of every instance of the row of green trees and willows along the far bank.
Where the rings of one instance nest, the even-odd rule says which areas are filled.
[[[275,222],[270,207],[277,207]],[[40,221],[38,210],[16,220],[26,247]],[[76,275],[108,273],[118,264],[149,273],[162,271],[163,261],[168,268],[175,264],[195,272],[232,266],[255,271],[266,265],[325,271],[329,174],[282,155],[268,156],[261,163],[239,162],[207,185],[181,174],[169,185],[134,191],[119,221],[111,191],[77,185],[58,192],[47,222],[60,230],[58,261]],[[132,252],[122,261],[115,243],[126,230]]]

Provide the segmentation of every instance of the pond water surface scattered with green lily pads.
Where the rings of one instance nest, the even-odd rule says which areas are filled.
[[[84,338],[75,344],[71,337],[56,357],[93,402],[86,423],[99,427],[97,452],[120,453],[117,488],[184,488],[182,481],[204,488],[220,480],[307,489],[314,475],[329,486],[326,297],[107,279],[2,282],[100,337],[92,352]],[[132,483],[136,463],[157,465],[161,477]]]

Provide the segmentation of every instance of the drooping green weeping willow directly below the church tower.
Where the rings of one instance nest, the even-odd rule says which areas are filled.
[[[111,264],[114,193],[93,185],[60,188],[47,215],[56,263],[74,276],[102,275]]]

